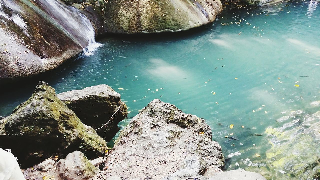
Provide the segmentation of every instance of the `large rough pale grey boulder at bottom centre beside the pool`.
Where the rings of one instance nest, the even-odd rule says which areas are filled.
[[[106,166],[106,177],[160,180],[181,167],[195,174],[223,168],[224,158],[204,119],[156,99],[120,133]]]

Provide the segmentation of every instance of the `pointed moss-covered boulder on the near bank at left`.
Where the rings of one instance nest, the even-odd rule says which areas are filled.
[[[75,150],[88,158],[104,154],[106,142],[92,127],[84,125],[42,81],[30,99],[0,121],[0,147],[12,149],[22,165],[34,165],[54,154]]]

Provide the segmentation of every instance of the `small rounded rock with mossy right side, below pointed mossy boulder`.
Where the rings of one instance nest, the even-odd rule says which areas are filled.
[[[100,171],[80,151],[74,151],[65,159],[59,160],[57,167],[59,176],[63,180],[87,180]]]

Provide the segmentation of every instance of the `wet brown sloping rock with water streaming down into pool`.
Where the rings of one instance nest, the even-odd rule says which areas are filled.
[[[89,20],[59,0],[0,1],[0,83],[51,71],[95,44]]]

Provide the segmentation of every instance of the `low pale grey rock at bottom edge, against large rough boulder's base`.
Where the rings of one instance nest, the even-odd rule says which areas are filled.
[[[190,179],[189,179],[190,178]],[[198,175],[195,171],[180,169],[177,172],[162,178],[161,180],[207,180],[206,177]]]

